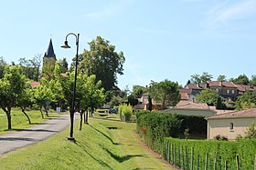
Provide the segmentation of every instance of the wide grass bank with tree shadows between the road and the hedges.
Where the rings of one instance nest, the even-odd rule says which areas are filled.
[[[90,119],[77,142],[67,140],[69,128],[48,140],[0,157],[1,169],[172,169],[144,147],[135,124]],[[108,127],[116,127],[109,129]]]

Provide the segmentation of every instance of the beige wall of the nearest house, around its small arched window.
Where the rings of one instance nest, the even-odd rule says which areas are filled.
[[[225,119],[208,119],[208,139],[214,139],[216,135],[224,135],[229,140],[235,140],[237,135],[245,135],[245,132],[251,125],[256,122],[256,118],[225,118]],[[233,124],[233,130],[230,124]]]

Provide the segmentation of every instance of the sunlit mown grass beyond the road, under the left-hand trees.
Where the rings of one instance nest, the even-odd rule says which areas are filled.
[[[32,125],[37,125],[43,121],[48,120],[49,117],[59,116],[53,110],[49,113],[49,117],[45,115],[42,119],[41,113],[38,110],[27,110],[27,115],[29,116]],[[21,112],[20,108],[12,108],[12,130],[7,130],[7,117],[5,112],[0,109],[0,135],[14,132],[18,129],[24,129],[31,125],[28,124],[27,117]]]

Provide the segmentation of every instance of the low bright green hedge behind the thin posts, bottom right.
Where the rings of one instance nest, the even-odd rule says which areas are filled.
[[[187,155],[185,148],[187,149]],[[194,153],[193,156],[192,153]],[[185,169],[191,169],[191,165],[193,165],[193,169],[196,169],[198,158],[199,169],[204,169],[207,154],[208,169],[214,169],[214,166],[216,169],[224,169],[225,161],[227,161],[229,169],[236,169],[237,155],[240,169],[253,169],[256,155],[256,140],[230,142],[165,138],[163,156],[166,160],[179,167],[185,166]],[[216,164],[214,164],[215,159]]]

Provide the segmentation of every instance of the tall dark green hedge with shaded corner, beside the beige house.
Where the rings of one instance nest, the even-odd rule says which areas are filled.
[[[189,134],[201,135],[207,132],[207,121],[203,116],[141,111],[136,114],[136,118],[137,132],[158,154],[163,153],[166,136],[180,137],[187,131]]]

